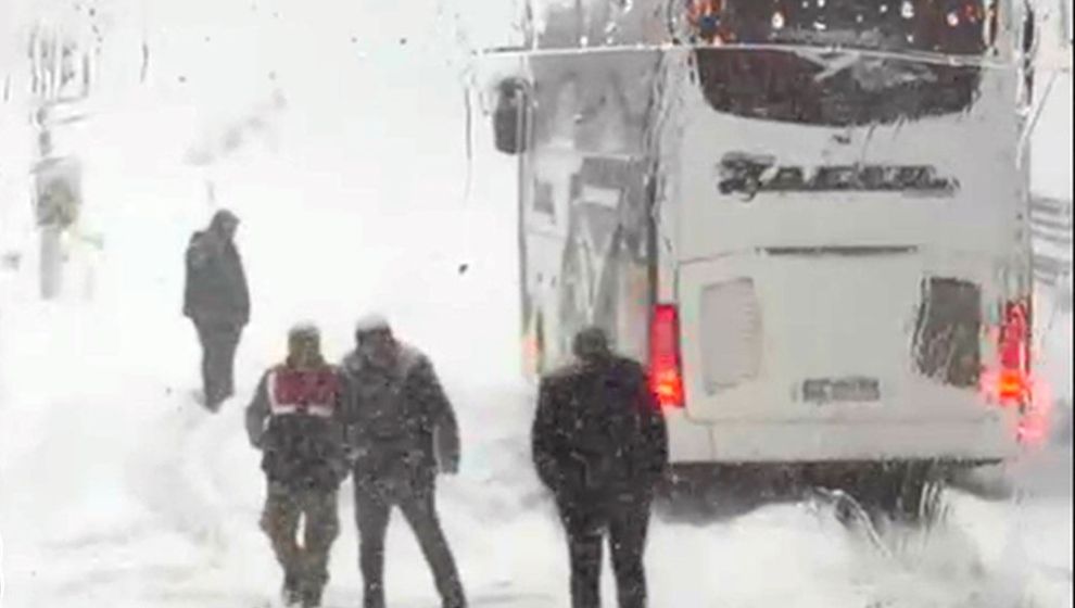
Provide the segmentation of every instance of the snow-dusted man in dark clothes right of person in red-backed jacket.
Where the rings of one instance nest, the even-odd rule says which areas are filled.
[[[400,343],[382,317],[359,321],[343,362],[354,459],[355,520],[366,608],[384,607],[384,532],[399,506],[433,571],[444,608],[466,606],[434,503],[438,469],[455,473],[455,414],[429,359]]]

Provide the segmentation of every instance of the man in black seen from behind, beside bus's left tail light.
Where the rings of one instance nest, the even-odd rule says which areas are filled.
[[[665,419],[642,366],[614,355],[600,329],[579,332],[574,354],[541,382],[534,466],[567,532],[573,608],[600,606],[606,531],[620,607],[643,608],[649,506],[668,459]]]

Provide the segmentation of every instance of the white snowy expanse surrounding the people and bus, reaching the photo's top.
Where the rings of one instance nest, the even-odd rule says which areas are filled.
[[[412,3],[300,7],[101,9],[104,85],[63,145],[87,163],[87,229],[104,246],[76,251],[60,302],[36,300],[24,174],[11,170],[28,162],[26,106],[0,104],[0,249],[25,240],[12,248],[18,267],[0,268],[4,608],[253,608],[275,596],[241,409],[291,322],[316,320],[336,357],[371,308],[432,355],[456,402],[464,464],[440,504],[475,605],[567,605],[566,549],[529,466],[531,394],[517,380],[515,174],[477,112],[467,162],[464,64],[442,52],[457,20]],[[29,14],[0,4],[0,35],[20,34]],[[1035,155],[1050,161],[1035,175],[1071,197],[1071,163],[1051,162],[1070,161],[1062,114],[1048,118]],[[182,246],[213,199],[243,219],[254,296],[239,395],[217,416],[193,403],[199,354],[178,314]],[[1070,301],[1055,313],[1051,292],[1039,301],[1041,363],[1070,404]],[[1068,441],[1013,467],[1015,497],[952,492],[938,528],[880,545],[821,504],[657,521],[652,605],[1071,606],[1071,474]],[[349,492],[330,608],[359,601]],[[437,605],[399,518],[389,544],[393,605]]]

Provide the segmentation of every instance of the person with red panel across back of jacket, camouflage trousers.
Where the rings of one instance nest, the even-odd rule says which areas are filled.
[[[328,582],[329,549],[340,530],[337,490],[349,472],[345,395],[339,370],[321,358],[317,329],[296,326],[287,360],[265,373],[246,408],[246,433],[262,451],[268,489],[261,524],[283,567],[289,606],[319,606]]]

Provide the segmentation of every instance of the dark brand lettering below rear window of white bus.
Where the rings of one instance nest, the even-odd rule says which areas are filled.
[[[759,192],[907,192],[951,197],[959,180],[929,165],[779,165],[769,155],[732,152],[717,166],[721,194],[752,200]]]

